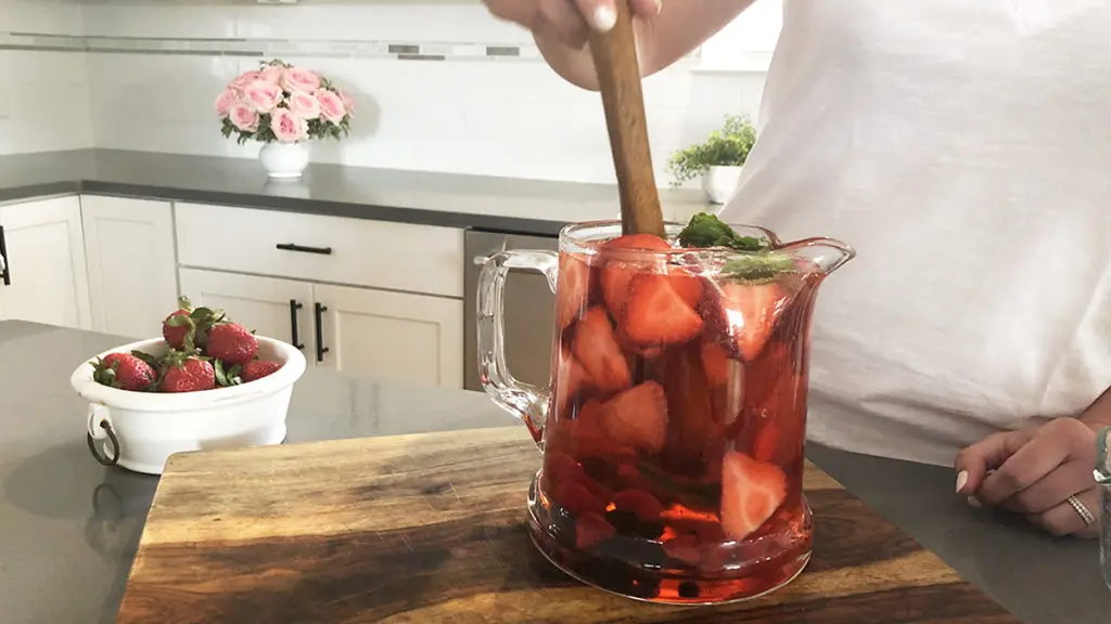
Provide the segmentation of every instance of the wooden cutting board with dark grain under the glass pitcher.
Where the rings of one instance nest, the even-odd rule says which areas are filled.
[[[717,607],[593,590],[529,540],[539,465],[523,426],[176,455],[118,622],[1017,622],[811,464],[814,551],[787,587]]]

